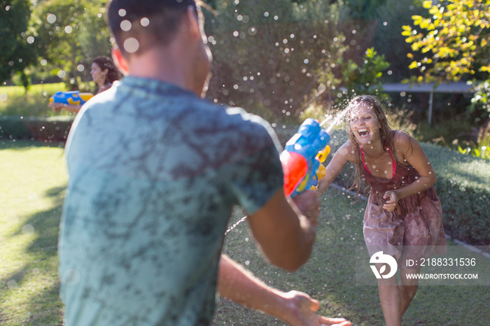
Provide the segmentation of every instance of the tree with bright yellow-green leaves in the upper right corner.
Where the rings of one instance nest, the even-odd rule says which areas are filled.
[[[423,8],[428,17],[414,15],[414,27],[403,27],[405,41],[420,56],[407,55],[413,59],[409,68],[420,73],[408,81],[442,83],[471,76],[477,85],[473,108],[490,113],[490,0],[423,1]]]

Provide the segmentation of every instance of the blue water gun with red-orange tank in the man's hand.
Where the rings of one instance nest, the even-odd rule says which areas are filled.
[[[330,136],[316,119],[304,120],[281,153],[284,172],[284,193],[294,197],[316,187],[325,176],[323,162],[330,153]]]

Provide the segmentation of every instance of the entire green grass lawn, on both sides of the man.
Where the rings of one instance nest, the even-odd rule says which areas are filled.
[[[62,325],[57,277],[57,233],[66,169],[62,148],[0,141],[0,324]],[[354,325],[383,325],[377,287],[354,281],[353,256],[363,244],[364,203],[331,188],[323,197],[314,253],[290,274],[258,252],[247,223],[225,239],[225,252],[281,290],[302,290],[321,302],[320,313]],[[236,211],[233,222],[243,215]],[[484,286],[421,287],[404,325],[488,325],[490,291]],[[214,325],[283,325],[237,304],[218,302]]]

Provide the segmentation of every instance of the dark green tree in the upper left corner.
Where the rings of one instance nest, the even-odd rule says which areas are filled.
[[[24,69],[36,59],[34,38],[27,35],[31,1],[0,0],[0,83],[20,73],[27,90],[29,78]]]

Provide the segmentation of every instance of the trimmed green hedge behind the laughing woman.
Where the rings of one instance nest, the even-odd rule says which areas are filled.
[[[332,132],[332,155],[346,141],[344,131]],[[430,143],[421,143],[437,174],[434,187],[442,204],[444,229],[472,245],[490,244],[490,162]],[[328,156],[326,164],[332,155]],[[352,168],[347,165],[335,183],[349,188]]]

